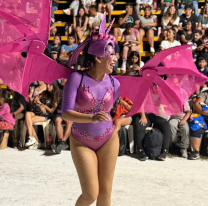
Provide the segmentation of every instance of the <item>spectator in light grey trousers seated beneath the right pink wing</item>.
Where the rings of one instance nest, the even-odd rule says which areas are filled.
[[[170,129],[172,133],[172,142],[179,146],[181,149],[181,156],[183,158],[188,158],[187,149],[189,147],[189,125],[187,120],[191,115],[191,109],[189,103],[186,101],[183,105],[183,113],[174,114],[171,116],[169,121]],[[180,132],[179,139],[178,132]]]

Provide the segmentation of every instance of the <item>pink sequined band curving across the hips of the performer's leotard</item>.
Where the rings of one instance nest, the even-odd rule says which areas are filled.
[[[103,135],[100,137],[91,137],[86,134],[86,132],[79,131],[74,124],[72,125],[72,134],[75,136],[80,137],[81,139],[88,139],[88,140],[94,140],[95,142],[99,142],[100,139],[106,138],[109,134],[112,134],[114,131],[114,125],[112,125],[110,128],[106,128],[106,131]]]

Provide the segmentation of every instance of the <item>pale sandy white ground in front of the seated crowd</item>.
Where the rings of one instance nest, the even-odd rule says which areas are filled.
[[[70,151],[0,150],[0,206],[74,206],[80,193]],[[207,206],[208,161],[118,157],[111,205]]]

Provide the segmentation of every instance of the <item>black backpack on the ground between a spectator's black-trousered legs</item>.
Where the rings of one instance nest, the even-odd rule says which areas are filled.
[[[149,159],[155,160],[160,155],[163,138],[163,134],[155,129],[145,135],[143,148]]]

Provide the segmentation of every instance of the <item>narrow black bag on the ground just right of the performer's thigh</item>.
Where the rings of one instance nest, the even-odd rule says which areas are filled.
[[[121,129],[118,131],[118,137],[119,137],[118,156],[122,156],[122,155],[125,155],[126,146],[127,146],[127,138],[128,138],[127,129],[125,127],[121,127]]]

